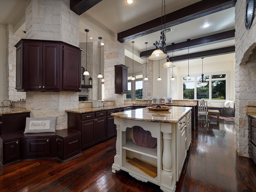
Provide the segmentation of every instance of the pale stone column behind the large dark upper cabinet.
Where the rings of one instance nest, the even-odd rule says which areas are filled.
[[[78,15],[69,0],[28,0],[26,38],[79,45]],[[78,108],[78,92],[26,92],[31,117],[57,116],[56,130],[67,128],[66,109]]]

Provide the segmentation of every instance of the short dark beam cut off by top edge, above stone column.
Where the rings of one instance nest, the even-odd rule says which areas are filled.
[[[70,0],[70,10],[81,15],[102,0]]]

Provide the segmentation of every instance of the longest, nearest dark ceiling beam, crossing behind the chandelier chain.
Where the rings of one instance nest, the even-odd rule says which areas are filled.
[[[234,7],[236,0],[202,0],[180,10],[166,14],[166,28],[200,18],[221,10]],[[118,41],[123,43],[147,34],[151,34],[161,30],[161,17],[140,24],[118,33]]]

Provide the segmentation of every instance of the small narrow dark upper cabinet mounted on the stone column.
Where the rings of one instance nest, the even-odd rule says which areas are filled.
[[[115,88],[117,94],[128,93],[128,67],[115,65]]]

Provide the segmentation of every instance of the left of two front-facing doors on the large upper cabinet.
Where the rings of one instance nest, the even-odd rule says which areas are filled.
[[[23,88],[42,87],[42,43],[24,43]]]

